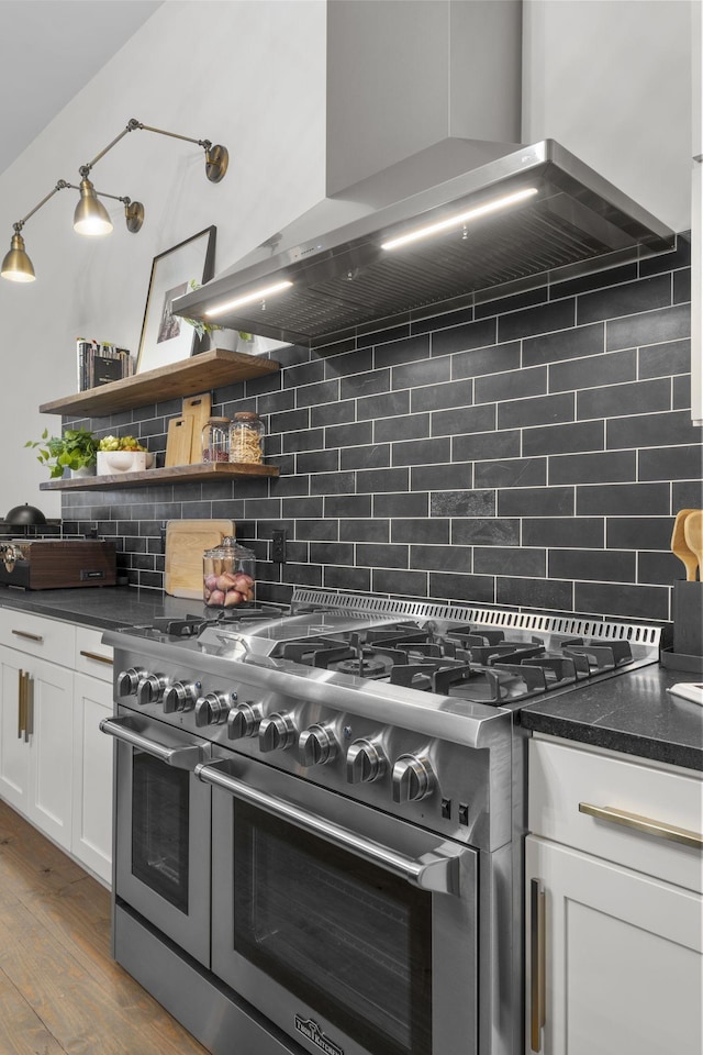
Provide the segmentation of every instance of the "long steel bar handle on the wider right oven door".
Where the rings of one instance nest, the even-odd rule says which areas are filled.
[[[436,893],[460,896],[460,862],[467,851],[454,843],[442,843],[428,853],[423,854],[422,857],[408,857],[405,854],[397,853],[390,847],[383,846],[382,843],[377,843],[375,840],[358,835],[341,824],[335,824],[317,813],[294,806],[286,799],[280,799],[278,796],[269,795],[266,791],[259,791],[244,780],[221,771],[217,768],[217,763],[211,763],[210,765],[203,763],[196,766],[196,776],[205,784],[223,788],[235,798],[242,799],[250,806],[266,810],[267,813],[272,813],[280,820],[289,821],[312,835],[319,835],[341,849],[356,854],[357,857],[361,857],[369,864],[377,865],[401,879],[406,879],[414,887],[420,887],[422,890],[432,890]]]

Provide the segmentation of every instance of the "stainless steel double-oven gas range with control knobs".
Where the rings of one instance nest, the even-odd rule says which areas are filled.
[[[516,1055],[520,708],[659,633],[315,590],[108,632],[115,958],[215,1055]]]

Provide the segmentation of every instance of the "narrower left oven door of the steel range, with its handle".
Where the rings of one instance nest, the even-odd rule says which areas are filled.
[[[212,797],[193,771],[210,745],[126,708],[100,728],[118,744],[115,896],[209,966]]]

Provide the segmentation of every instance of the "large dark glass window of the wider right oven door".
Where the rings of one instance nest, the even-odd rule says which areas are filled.
[[[235,801],[234,948],[372,1055],[432,1050],[432,896]]]

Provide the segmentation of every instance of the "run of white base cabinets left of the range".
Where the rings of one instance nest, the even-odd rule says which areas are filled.
[[[0,796],[108,884],[111,713],[100,632],[0,609]]]

